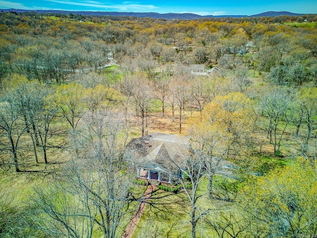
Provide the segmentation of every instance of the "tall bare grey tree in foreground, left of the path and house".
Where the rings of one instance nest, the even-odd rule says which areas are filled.
[[[125,128],[122,115],[114,112],[85,115],[74,131],[78,153],[65,165],[62,180],[38,189],[33,197],[37,213],[46,221],[45,232],[74,238],[91,238],[96,232],[105,238],[117,235],[131,197],[130,168],[121,155]]]

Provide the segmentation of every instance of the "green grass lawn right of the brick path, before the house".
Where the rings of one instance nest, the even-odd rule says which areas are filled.
[[[220,181],[220,180],[218,180]],[[208,180],[200,184],[197,195],[203,195],[197,202],[197,214],[209,212],[209,217],[217,216],[221,206],[230,205],[229,202],[210,199],[207,195]],[[166,238],[191,237],[189,217],[190,204],[188,196],[182,190],[179,193],[156,190],[147,204],[147,207],[136,227],[132,238]],[[197,223],[197,237],[215,237],[214,230],[200,219]]]

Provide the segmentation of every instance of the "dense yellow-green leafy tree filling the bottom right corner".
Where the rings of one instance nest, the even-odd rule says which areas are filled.
[[[249,182],[241,191],[245,211],[266,227],[268,234],[281,237],[316,235],[317,171],[298,158],[295,165],[272,171]]]

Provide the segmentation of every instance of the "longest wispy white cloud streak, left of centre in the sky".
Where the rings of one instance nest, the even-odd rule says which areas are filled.
[[[147,11],[156,9],[158,7],[151,4],[138,4],[133,2],[122,3],[122,4],[112,4],[112,3],[103,3],[100,1],[92,0],[82,0],[82,1],[68,1],[68,0],[46,0],[48,2],[60,3],[63,5],[74,5],[74,6],[84,6],[95,8],[95,10],[117,10],[117,11]],[[65,8],[65,7],[63,7]]]

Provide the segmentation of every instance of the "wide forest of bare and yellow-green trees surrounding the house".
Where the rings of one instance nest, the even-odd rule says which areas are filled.
[[[316,22],[0,12],[0,237],[123,237],[161,132],[195,153],[132,238],[316,238]]]

